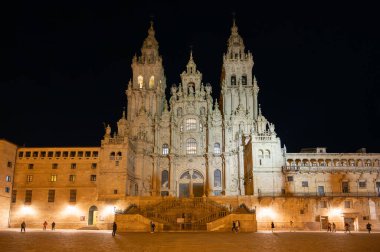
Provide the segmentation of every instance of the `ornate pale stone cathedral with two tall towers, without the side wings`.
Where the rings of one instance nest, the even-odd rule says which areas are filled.
[[[281,191],[284,153],[274,125],[258,106],[253,56],[245,51],[235,21],[223,55],[219,103],[211,85],[202,82],[192,52],[167,100],[158,48],[151,23],[141,55],[132,60],[127,116],[124,112],[113,134],[108,126],[102,140],[104,155],[127,156],[121,163],[103,164],[107,180],[131,196]]]

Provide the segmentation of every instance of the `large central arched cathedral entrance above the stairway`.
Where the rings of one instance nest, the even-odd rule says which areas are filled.
[[[204,194],[204,179],[196,170],[184,172],[179,178],[179,197],[202,197]]]

